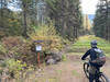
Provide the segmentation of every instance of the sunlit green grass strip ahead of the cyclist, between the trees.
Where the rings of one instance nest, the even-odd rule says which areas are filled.
[[[102,49],[106,55],[110,56],[110,43],[94,35],[79,37],[78,40],[72,45],[68,52],[85,52],[90,48],[90,42],[94,39],[98,42],[98,47]]]

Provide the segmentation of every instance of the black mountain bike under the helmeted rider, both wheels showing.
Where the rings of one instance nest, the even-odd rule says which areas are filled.
[[[89,63],[89,61],[86,61],[84,63],[84,72],[85,72],[87,79],[89,79],[89,68],[90,68],[90,63]],[[95,75],[94,80],[100,80],[100,82],[110,82],[109,79],[97,69],[96,69],[96,73],[94,75]]]

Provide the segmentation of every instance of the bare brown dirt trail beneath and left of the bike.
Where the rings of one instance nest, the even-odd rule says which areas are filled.
[[[109,59],[102,71],[110,77]],[[58,65],[47,66],[43,70],[43,75],[37,82],[88,82],[82,71],[80,56],[67,55],[67,61]]]

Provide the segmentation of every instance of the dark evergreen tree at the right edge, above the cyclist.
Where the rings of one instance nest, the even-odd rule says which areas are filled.
[[[110,40],[110,1],[100,0],[96,17],[94,20],[94,31],[95,34],[99,37],[102,37],[107,40]]]

